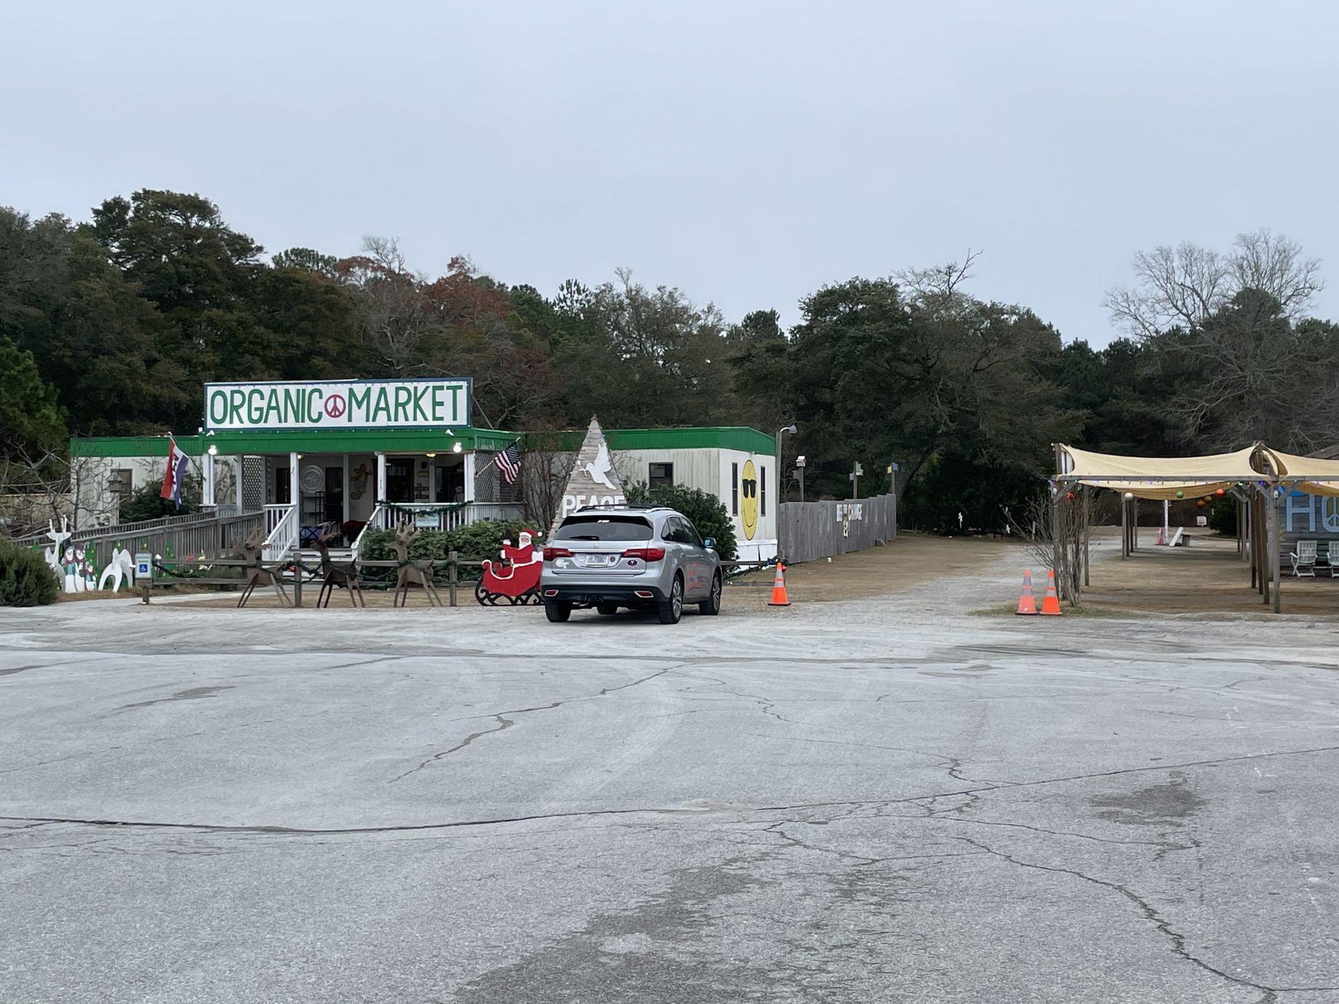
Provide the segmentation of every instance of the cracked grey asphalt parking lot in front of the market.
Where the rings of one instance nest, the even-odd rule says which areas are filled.
[[[1014,564],[0,610],[0,1000],[1339,1000],[1339,624],[969,613]]]

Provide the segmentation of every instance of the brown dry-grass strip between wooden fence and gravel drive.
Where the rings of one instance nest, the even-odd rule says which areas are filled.
[[[786,592],[793,601],[805,602],[864,600],[947,576],[979,574],[1010,553],[1022,556],[1024,550],[1007,538],[900,533],[884,548],[787,566]],[[727,590],[727,596],[747,589],[770,594],[774,577],[771,569],[757,572],[738,580],[747,585]]]

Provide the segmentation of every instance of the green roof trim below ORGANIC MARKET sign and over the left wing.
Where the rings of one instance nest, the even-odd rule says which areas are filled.
[[[182,452],[200,456],[209,444],[224,456],[240,454],[375,454],[450,452],[459,440],[465,450],[505,450],[517,432],[498,428],[287,428],[279,431],[220,430],[177,436]],[[167,436],[99,436],[71,439],[71,456],[166,456]]]

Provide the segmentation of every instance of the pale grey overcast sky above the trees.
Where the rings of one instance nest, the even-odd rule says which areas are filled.
[[[735,320],[983,250],[1105,343],[1141,248],[1271,226],[1339,316],[1339,4],[5,3],[0,203],[198,191],[273,253],[398,237]]]

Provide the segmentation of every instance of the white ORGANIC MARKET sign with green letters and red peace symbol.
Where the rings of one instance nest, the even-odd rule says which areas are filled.
[[[205,384],[205,428],[435,428],[470,424],[470,382]]]

